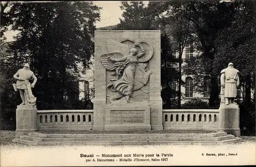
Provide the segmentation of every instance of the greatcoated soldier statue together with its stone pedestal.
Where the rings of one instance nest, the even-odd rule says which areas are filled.
[[[229,63],[228,67],[221,71],[221,104],[219,129],[234,136],[240,136],[239,106],[234,102],[239,86],[239,70]]]

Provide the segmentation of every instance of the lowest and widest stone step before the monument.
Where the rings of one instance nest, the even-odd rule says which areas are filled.
[[[12,141],[27,145],[217,145],[239,142],[239,137],[220,141],[31,141],[15,138]]]

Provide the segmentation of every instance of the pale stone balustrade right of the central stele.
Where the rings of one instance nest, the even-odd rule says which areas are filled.
[[[218,109],[164,109],[163,129],[206,129],[219,128]]]

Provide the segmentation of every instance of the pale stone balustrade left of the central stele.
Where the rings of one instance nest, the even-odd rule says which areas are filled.
[[[93,110],[38,110],[39,130],[93,129]]]

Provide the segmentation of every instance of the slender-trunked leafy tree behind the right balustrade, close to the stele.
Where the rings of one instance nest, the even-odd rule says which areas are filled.
[[[185,7],[186,2],[152,2],[149,7],[158,9],[157,22],[161,25],[161,29],[165,35],[168,35],[171,39],[171,50],[173,53],[178,53],[178,76],[175,80],[178,81],[178,108],[181,107],[181,85],[184,82],[181,79],[182,76],[182,54],[185,44],[190,42],[193,38],[193,27],[189,21],[185,19]]]

